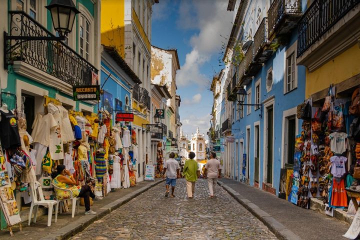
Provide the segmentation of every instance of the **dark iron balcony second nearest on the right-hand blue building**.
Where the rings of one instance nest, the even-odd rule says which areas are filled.
[[[254,60],[261,63],[265,63],[273,53],[273,50],[269,48],[267,24],[267,17],[264,17],[254,35]]]

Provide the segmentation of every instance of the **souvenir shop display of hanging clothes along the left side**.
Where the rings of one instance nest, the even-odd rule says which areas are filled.
[[[0,103],[0,205],[7,223],[28,209],[33,183],[41,186],[44,199],[56,199],[50,175],[58,164],[98,196],[136,185],[136,134],[130,122],[113,122],[112,112],[102,108],[97,114],[74,111],[44,96],[43,112],[28,124],[25,98],[16,106],[16,95],[6,95],[13,95],[1,97]],[[70,203],[65,201],[63,211]]]

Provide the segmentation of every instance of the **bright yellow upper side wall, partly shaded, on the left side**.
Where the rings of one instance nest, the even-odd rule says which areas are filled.
[[[124,1],[101,1],[101,44],[115,46],[124,57]]]

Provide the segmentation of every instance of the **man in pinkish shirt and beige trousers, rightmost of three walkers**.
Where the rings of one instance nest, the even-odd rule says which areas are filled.
[[[215,186],[217,183],[217,178],[221,177],[221,164],[220,161],[216,159],[216,153],[210,153],[210,159],[207,160],[205,164],[205,168],[207,169],[207,183],[210,195],[209,197],[214,197]]]

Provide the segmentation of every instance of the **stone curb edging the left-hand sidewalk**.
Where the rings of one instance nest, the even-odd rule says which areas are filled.
[[[40,238],[39,240],[65,240],[75,235],[76,233],[79,233],[94,221],[101,219],[105,215],[109,214],[110,212],[114,211],[115,209],[119,208],[123,204],[127,203],[131,199],[135,198],[136,196],[147,191],[148,189],[152,188],[153,186],[159,184],[162,181],[164,181],[164,179],[155,181],[147,186],[136,189],[135,191],[128,193],[107,205],[102,206],[100,209],[97,210],[96,215],[85,215],[84,217],[76,221],[70,222],[70,224],[61,227],[57,231],[50,233]]]

